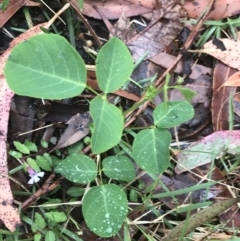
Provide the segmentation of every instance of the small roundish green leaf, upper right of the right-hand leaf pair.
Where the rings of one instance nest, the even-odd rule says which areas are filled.
[[[159,128],[178,126],[194,116],[194,109],[186,100],[159,104],[153,111],[155,125]]]

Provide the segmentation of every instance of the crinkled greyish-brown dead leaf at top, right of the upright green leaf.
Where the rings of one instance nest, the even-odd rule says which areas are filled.
[[[181,4],[176,4],[174,0],[162,0],[161,8],[153,11],[149,25],[160,20],[147,31],[144,30],[143,33],[140,32],[139,35],[127,41],[133,59],[139,59],[146,52],[148,52],[147,59],[162,52],[180,33],[183,28],[181,21],[186,17],[187,13]]]

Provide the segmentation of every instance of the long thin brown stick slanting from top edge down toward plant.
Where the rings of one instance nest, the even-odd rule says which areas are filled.
[[[211,8],[212,8],[212,6],[213,6],[213,4],[214,4],[214,1],[215,1],[215,0],[210,0],[210,1],[209,1],[208,8],[207,8],[205,14],[204,14],[204,15],[202,16],[202,18],[198,21],[196,27],[194,28],[194,30],[193,30],[193,31],[191,32],[191,34],[189,35],[186,43],[185,43],[184,46],[183,46],[183,50],[188,50],[188,49],[191,47],[191,45],[192,45],[192,43],[193,43],[193,40],[195,39],[196,35],[198,34],[199,30],[201,29],[201,27],[202,27],[202,25],[203,25],[203,23],[204,23],[204,20],[206,19],[207,15],[210,13],[210,10],[211,10]],[[162,74],[162,76],[154,83],[154,86],[155,86],[156,88],[161,87],[161,85],[163,84],[163,80],[165,79],[166,75],[176,66],[176,64],[180,61],[181,58],[182,58],[182,54],[179,54],[179,55],[177,56],[177,58],[175,59],[175,61],[172,63],[172,65],[171,65],[171,66]],[[137,103],[135,103],[135,104],[141,103],[142,101],[144,101],[144,98],[145,98],[145,95],[143,95],[142,98],[141,98]],[[137,118],[137,116],[139,116],[139,115],[142,113],[142,111],[144,111],[144,110],[147,108],[149,102],[150,102],[150,101],[147,100],[147,101],[138,109],[138,111],[137,111],[136,113],[134,113],[134,115],[130,118],[130,120],[128,120],[128,121],[125,123],[124,127],[128,127],[128,126]],[[126,117],[130,116],[132,113],[133,113],[133,111],[129,112]]]

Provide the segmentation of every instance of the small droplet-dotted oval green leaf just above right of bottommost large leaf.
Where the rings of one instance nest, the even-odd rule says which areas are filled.
[[[109,156],[102,165],[104,174],[112,179],[130,182],[136,176],[133,162],[124,155]]]

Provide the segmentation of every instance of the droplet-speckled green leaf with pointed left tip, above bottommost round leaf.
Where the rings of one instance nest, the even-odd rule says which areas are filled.
[[[88,183],[96,178],[97,166],[90,157],[73,153],[58,164],[55,172],[61,173],[72,182]]]

